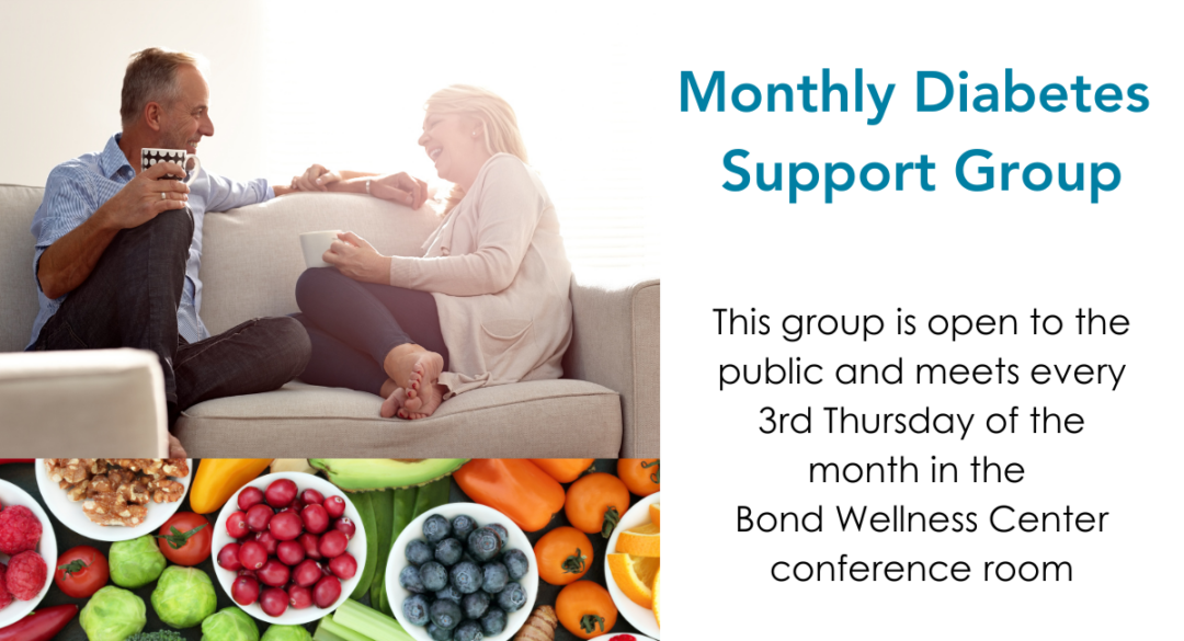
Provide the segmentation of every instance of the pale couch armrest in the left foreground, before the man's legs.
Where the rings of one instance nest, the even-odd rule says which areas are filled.
[[[13,458],[168,457],[165,377],[150,351],[0,354],[0,407]]]

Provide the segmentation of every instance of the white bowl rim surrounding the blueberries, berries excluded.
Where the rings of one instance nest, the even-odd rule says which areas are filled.
[[[399,535],[399,538],[394,539],[394,545],[391,548],[391,558],[386,562],[385,577],[386,594],[390,595],[391,609],[394,610],[394,617],[399,620],[403,629],[407,630],[407,634],[414,639],[432,641],[432,637],[427,635],[426,627],[411,623],[407,621],[406,615],[403,614],[403,601],[411,596],[411,593],[403,589],[403,585],[399,584],[399,572],[408,565],[407,544],[417,538],[424,538],[424,522],[432,514],[439,514],[450,522],[455,517],[468,514],[477,522],[478,526],[497,523],[510,533],[508,548],[521,550],[526,555],[527,561],[530,562],[530,568],[527,570],[526,576],[519,580],[519,583],[526,590],[526,606],[522,606],[517,611],[506,615],[506,629],[501,634],[484,637],[485,641],[509,641],[514,636],[514,633],[519,632],[519,628],[526,624],[526,620],[534,611],[534,600],[539,595],[539,562],[534,558],[534,546],[530,545],[530,539],[526,538],[521,527],[497,510],[476,503],[450,503],[435,510],[429,510],[419,514],[419,518],[416,520],[412,520],[403,530],[403,533]]]

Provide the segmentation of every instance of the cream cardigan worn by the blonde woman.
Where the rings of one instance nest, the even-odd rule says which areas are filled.
[[[489,158],[424,250],[391,258],[391,284],[436,298],[450,360],[445,399],[562,376],[572,266],[534,169],[509,154]]]

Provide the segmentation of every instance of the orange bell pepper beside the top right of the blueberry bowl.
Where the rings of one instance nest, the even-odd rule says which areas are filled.
[[[470,499],[538,532],[564,509],[564,486],[528,459],[474,459],[452,472]]]

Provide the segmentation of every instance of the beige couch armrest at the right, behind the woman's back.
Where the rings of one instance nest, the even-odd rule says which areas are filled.
[[[572,344],[564,375],[620,394],[622,458],[658,455],[659,281],[585,285],[572,278]]]

